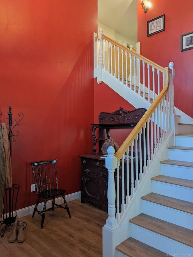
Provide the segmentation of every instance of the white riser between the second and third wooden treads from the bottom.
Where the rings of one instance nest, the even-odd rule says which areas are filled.
[[[193,214],[141,200],[142,213],[193,230]]]

